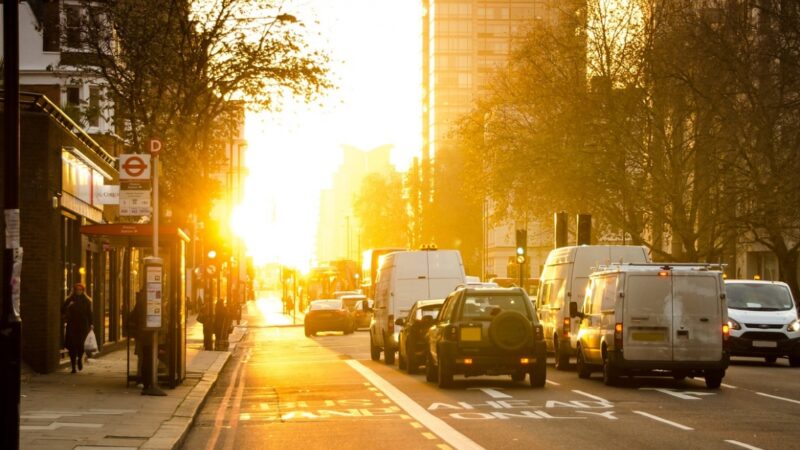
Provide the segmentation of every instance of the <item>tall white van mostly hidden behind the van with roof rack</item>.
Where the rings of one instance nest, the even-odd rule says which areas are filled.
[[[581,245],[561,247],[547,255],[539,281],[536,309],[544,327],[547,350],[553,352],[556,369],[569,368],[575,355],[578,322],[570,320],[569,303],[583,303],[586,283],[593,268],[612,263],[647,263],[647,248],[634,245]]]

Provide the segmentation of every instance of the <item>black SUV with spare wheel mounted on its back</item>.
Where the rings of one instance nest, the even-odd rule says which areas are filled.
[[[520,288],[461,287],[445,299],[428,331],[425,378],[450,387],[453,375],[511,375],[544,386],[544,331]]]

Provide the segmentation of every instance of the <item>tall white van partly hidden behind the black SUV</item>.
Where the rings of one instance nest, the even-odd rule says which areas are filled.
[[[417,300],[445,298],[465,284],[464,263],[458,250],[419,250],[389,253],[378,269],[374,319],[369,348],[373,360],[394,364],[397,351],[395,319],[406,317]]]

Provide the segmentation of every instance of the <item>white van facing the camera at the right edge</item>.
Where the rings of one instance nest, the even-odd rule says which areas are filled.
[[[800,367],[800,320],[789,285],[780,281],[725,280],[731,355],[778,357]]]

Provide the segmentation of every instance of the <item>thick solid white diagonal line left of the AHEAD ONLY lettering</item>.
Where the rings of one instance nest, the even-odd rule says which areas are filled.
[[[472,439],[464,436],[451,427],[444,420],[434,416],[433,414],[425,411],[425,409],[418,405],[409,396],[394,387],[391,383],[381,378],[378,374],[361,364],[360,362],[348,359],[345,363],[349,364],[356,372],[370,381],[373,385],[380,388],[386,393],[386,396],[392,399],[397,405],[403,408],[408,414],[411,415],[418,422],[423,424],[426,428],[433,431],[443,441],[453,448],[458,449],[482,449],[480,445],[475,443]]]

